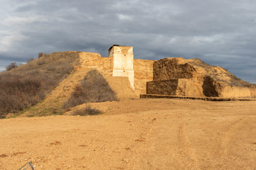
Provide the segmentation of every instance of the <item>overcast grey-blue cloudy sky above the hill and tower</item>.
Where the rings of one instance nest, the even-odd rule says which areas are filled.
[[[0,0],[0,69],[38,52],[134,47],[134,57],[200,58],[256,84],[255,0]]]

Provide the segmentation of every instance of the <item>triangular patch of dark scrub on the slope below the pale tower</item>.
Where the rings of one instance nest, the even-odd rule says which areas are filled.
[[[84,79],[75,86],[70,100],[63,108],[73,108],[82,103],[95,103],[117,100],[116,94],[110,88],[105,78],[97,70],[88,72]]]

